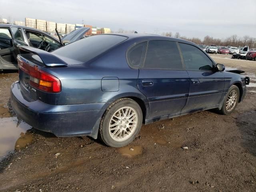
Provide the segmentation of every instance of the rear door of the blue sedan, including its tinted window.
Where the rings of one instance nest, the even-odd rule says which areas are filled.
[[[189,77],[176,42],[148,42],[144,64],[139,68],[138,88],[148,99],[150,118],[176,114],[184,108]]]

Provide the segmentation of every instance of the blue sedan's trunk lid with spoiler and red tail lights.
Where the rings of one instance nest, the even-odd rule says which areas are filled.
[[[46,51],[22,47],[17,56],[19,83],[26,100],[40,100],[47,104],[56,104],[56,94],[61,90],[60,80],[46,72],[46,68],[60,68],[67,64],[56,55]],[[56,91],[56,87],[60,90]]]

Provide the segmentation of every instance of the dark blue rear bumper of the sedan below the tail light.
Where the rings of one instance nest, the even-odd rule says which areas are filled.
[[[30,126],[58,137],[89,135],[97,138],[100,119],[108,106],[108,103],[49,105],[25,98],[20,84],[12,84],[11,105],[17,116]]]

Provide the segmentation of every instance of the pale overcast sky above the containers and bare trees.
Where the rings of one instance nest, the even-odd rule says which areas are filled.
[[[0,17],[89,24],[139,33],[256,38],[256,0],[0,0]]]

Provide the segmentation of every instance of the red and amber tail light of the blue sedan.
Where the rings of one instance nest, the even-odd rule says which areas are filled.
[[[39,70],[38,66],[31,66],[22,60],[18,60],[18,68],[29,74],[29,84],[31,86],[49,93],[58,93],[61,91],[60,80],[43,70]]]

